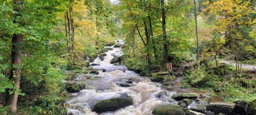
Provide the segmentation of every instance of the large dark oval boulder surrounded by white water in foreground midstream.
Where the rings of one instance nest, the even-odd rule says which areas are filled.
[[[133,99],[131,97],[127,98],[112,98],[107,100],[102,100],[93,106],[92,111],[97,113],[115,111],[126,106],[133,105]]]

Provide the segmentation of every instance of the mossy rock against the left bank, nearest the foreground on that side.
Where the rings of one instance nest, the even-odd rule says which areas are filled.
[[[84,88],[86,88],[86,85],[82,83],[66,83],[66,90],[69,93],[77,93]]]

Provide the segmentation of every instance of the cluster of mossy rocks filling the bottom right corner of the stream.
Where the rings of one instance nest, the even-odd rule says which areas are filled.
[[[159,97],[159,96],[158,96]],[[213,102],[203,104],[196,93],[180,93],[172,97],[177,104],[168,104],[157,107],[153,110],[154,115],[254,115],[256,113],[256,100],[248,104],[241,100],[236,100],[232,104],[224,102]]]

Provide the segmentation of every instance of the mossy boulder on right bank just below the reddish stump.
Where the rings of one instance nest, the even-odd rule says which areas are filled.
[[[170,77],[168,72],[152,73],[152,82],[164,82],[166,78]]]

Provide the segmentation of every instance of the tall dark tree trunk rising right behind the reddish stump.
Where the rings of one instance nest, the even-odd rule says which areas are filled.
[[[168,41],[166,38],[166,14],[165,14],[165,8],[164,8],[164,0],[161,0],[161,9],[162,9],[162,31],[163,31],[163,40],[164,40],[164,44],[163,44],[163,62],[164,64],[167,63],[168,61]]]

